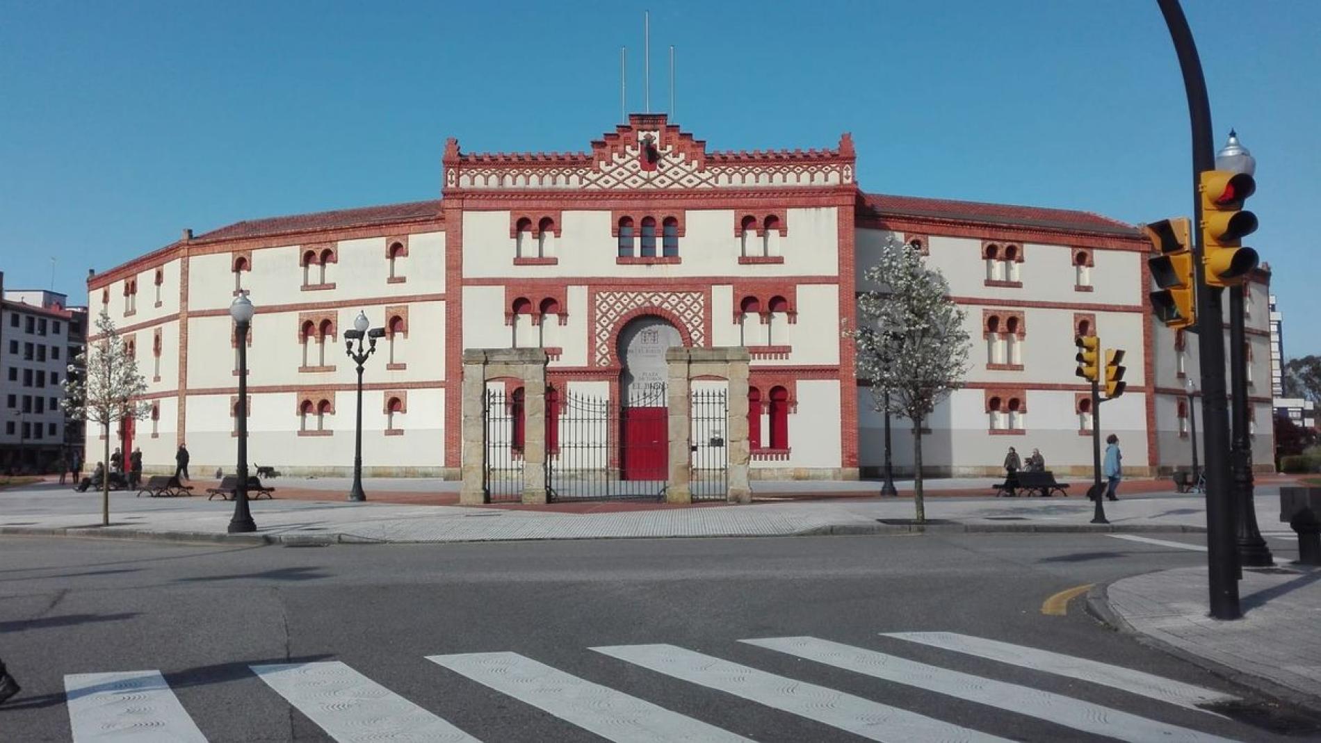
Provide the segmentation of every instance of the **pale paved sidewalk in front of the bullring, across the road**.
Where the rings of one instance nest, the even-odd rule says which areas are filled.
[[[465,542],[510,540],[752,537],[869,534],[911,531],[959,532],[1197,532],[1205,528],[1203,499],[1173,494],[1125,495],[1106,503],[1110,524],[1091,524],[1091,501],[1073,498],[968,498],[927,501],[927,519],[950,521],[925,528],[913,517],[910,498],[865,498],[876,483],[794,483],[804,499],[674,507],[649,504],[552,504],[547,507],[460,507],[394,504],[379,500],[382,482],[367,488],[367,503],[346,503],[339,483],[316,480],[316,500],[288,498],[281,480],[275,500],[252,501],[255,534],[226,534],[234,504],[193,498],[135,498],[111,494],[111,527],[100,527],[100,495],[54,484],[0,491],[0,533],[120,536],[177,541],[244,542]],[[980,482],[980,480],[978,480]],[[199,483],[197,483],[199,484]],[[301,483],[300,483],[301,484]],[[346,484],[346,483],[345,483]],[[416,496],[407,482],[394,483]],[[852,498],[811,498],[814,488],[843,487]],[[865,488],[865,490],[864,490]],[[310,490],[310,488],[303,488]],[[1273,486],[1259,488],[1259,520],[1269,531],[1277,517]],[[900,521],[884,523],[881,520]]]

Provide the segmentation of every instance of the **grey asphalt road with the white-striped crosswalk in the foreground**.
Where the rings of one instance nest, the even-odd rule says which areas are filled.
[[[1194,544],[1197,536],[1169,541]],[[1280,557],[1288,552],[1280,550]],[[1104,628],[1083,612],[1081,598],[1065,616],[1041,611],[1048,597],[1065,589],[1203,561],[1198,552],[1104,534],[324,548],[3,537],[0,657],[24,692],[0,706],[0,740],[70,740],[75,726],[79,740],[96,740],[91,732],[110,730],[98,725],[112,728],[168,713],[170,694],[178,707],[168,723],[196,725],[206,740],[244,743],[350,740],[391,725],[435,726],[436,718],[486,742],[682,739],[675,731],[683,730],[690,740],[729,734],[762,742],[929,736],[921,719],[919,727],[905,728],[913,721],[905,722],[902,711],[880,713],[890,717],[877,725],[877,705],[925,715],[935,726],[971,728],[964,739],[978,739],[972,731],[979,731],[1017,740],[1148,740],[1148,723],[1182,728],[1161,734],[1169,740],[1281,739],[1256,715],[1292,721],[1295,735],[1288,739],[1321,738],[1321,728],[1306,731],[1295,710],[1273,707]],[[1247,711],[1211,715],[1046,673],[1040,661],[1025,668],[881,636],[917,631],[1139,669],[1243,698],[1239,706]],[[840,643],[849,657],[875,661],[878,652],[898,660],[882,664],[876,677],[740,641],[795,636]],[[650,647],[657,644],[674,648]],[[592,649],[620,645],[629,648]],[[691,652],[707,657],[683,662]],[[458,653],[517,655],[452,657]],[[659,666],[670,670],[649,668],[638,653],[668,657],[672,662]],[[437,662],[428,656],[450,657]],[[913,672],[904,659],[938,668]],[[284,692],[297,698],[321,684],[330,695],[299,698],[297,705],[277,690],[280,677],[264,680],[250,668],[328,661],[345,664],[334,666],[339,676],[333,682],[321,678]],[[729,670],[728,662],[762,673]],[[152,690],[137,707],[118,709],[81,694],[66,698],[66,681],[86,682],[74,674],[143,670],[159,670],[168,686]],[[716,676],[694,681],[668,674],[703,670]],[[1034,701],[1032,692],[979,686],[947,670],[1067,699]],[[583,681],[598,686],[584,692]],[[513,686],[487,685],[503,682]],[[383,717],[374,718],[370,709],[345,713],[351,706],[346,701],[361,699],[365,685],[373,684],[402,699],[378,698],[391,705]],[[567,699],[575,692],[577,705]],[[629,706],[625,694],[655,707]],[[768,705],[758,694],[773,698]],[[104,703],[89,709],[89,702]],[[1038,702],[1049,714],[1034,711]],[[614,717],[605,719],[610,715],[604,713]],[[863,725],[861,734],[856,727],[845,732],[851,725]],[[643,727],[650,732],[641,734]],[[149,740],[151,730],[144,726],[115,739]],[[662,731],[676,736],[662,738]],[[432,732],[416,739],[440,738]]]

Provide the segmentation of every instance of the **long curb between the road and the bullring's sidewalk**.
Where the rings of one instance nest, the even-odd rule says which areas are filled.
[[[234,545],[285,545],[285,546],[324,546],[333,544],[495,544],[495,542],[528,542],[528,541],[583,541],[597,538],[758,538],[758,537],[827,537],[827,536],[886,536],[886,534],[958,534],[958,533],[985,533],[985,534],[1074,534],[1074,533],[1203,533],[1202,527],[1161,525],[1161,524],[826,524],[811,527],[799,532],[781,534],[638,534],[638,536],[609,536],[609,537],[568,537],[568,538],[505,538],[505,540],[446,540],[446,541],[419,541],[419,540],[374,540],[355,534],[295,534],[295,533],[246,533],[230,534],[218,532],[155,532],[148,529],[122,529],[106,527],[0,527],[0,536],[26,536],[26,537],[70,537],[70,538],[115,538],[115,540],[141,540],[165,541],[176,544],[234,544]]]

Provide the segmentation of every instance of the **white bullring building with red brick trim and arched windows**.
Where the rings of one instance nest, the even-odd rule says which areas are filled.
[[[366,371],[369,475],[457,476],[465,348],[544,348],[555,395],[622,406],[666,347],[744,346],[752,478],[865,476],[882,418],[841,330],[863,272],[896,240],[945,275],[972,338],[964,385],[929,421],[931,474],[997,472],[1011,445],[1057,472],[1090,471],[1092,410],[1073,360],[1087,334],[1127,351],[1128,391],[1102,420],[1127,468],[1190,459],[1196,338],[1151,319],[1149,244],[1132,224],[873,194],[847,133],[826,149],[715,150],[653,113],[587,152],[469,153],[450,139],[441,183],[425,201],[185,230],[90,276],[90,310],[110,313],[149,391],[149,417],[112,446],[169,470],[186,441],[194,472],[232,470],[229,305],[247,292],[248,450],[285,472],[349,470],[355,372],[341,342],[365,311],[386,330]],[[1248,285],[1256,462],[1272,446],[1268,280]],[[894,426],[904,471],[911,439]],[[100,451],[99,432],[87,436]]]

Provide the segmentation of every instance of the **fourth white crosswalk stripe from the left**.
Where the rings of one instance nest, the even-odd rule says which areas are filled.
[[[691,681],[804,717],[868,740],[1005,740],[917,713],[892,707],[824,686],[804,684],[705,656],[675,645],[614,645],[592,648],[666,676]]]

